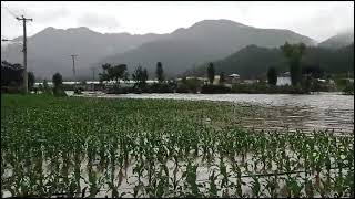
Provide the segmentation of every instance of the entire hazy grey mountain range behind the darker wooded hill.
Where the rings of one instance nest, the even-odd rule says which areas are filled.
[[[28,70],[39,78],[51,78],[55,72],[71,78],[70,55],[78,54],[75,65],[81,77],[91,77],[91,67],[100,72],[103,63],[125,63],[130,73],[142,65],[152,75],[156,62],[163,63],[168,76],[175,76],[193,65],[223,59],[251,44],[270,49],[286,41],[317,44],[315,40],[290,30],[258,29],[230,20],[204,20],[168,34],[102,34],[83,27],[47,28],[28,38]],[[334,42],[326,43],[333,45]],[[1,60],[22,63],[21,45],[1,46]]]

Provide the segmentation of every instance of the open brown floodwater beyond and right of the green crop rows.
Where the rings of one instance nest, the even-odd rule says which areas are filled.
[[[191,101],[226,101],[260,105],[263,114],[239,117],[248,128],[267,129],[329,129],[354,133],[354,95],[339,93],[296,94],[100,94],[81,96],[108,98],[173,98]]]

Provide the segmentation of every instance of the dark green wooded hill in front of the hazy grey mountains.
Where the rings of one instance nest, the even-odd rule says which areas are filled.
[[[206,76],[209,63],[187,70],[182,76]],[[280,48],[262,48],[248,45],[224,59],[213,61],[215,74],[237,73],[243,78],[265,77],[268,67],[278,72],[290,71],[287,60]],[[354,43],[339,48],[307,48],[302,66],[320,66],[326,74],[354,72]]]

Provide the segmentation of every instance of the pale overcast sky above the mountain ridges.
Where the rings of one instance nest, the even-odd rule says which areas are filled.
[[[102,33],[170,33],[206,19],[288,29],[317,41],[354,29],[354,1],[1,1],[2,39],[22,34],[22,25],[12,14],[33,19],[29,22],[28,35],[47,27],[88,27]]]

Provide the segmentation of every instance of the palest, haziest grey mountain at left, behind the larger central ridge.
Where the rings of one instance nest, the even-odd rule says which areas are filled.
[[[71,54],[77,57],[79,75],[88,74],[90,66],[100,59],[113,53],[135,49],[142,43],[158,39],[159,34],[132,35],[129,33],[102,34],[88,28],[54,29],[28,38],[28,70],[39,77],[50,78],[55,72],[72,77]],[[20,41],[21,38],[14,39]],[[1,60],[22,63],[22,46],[9,44],[1,46]]]

